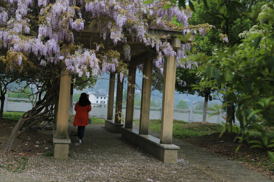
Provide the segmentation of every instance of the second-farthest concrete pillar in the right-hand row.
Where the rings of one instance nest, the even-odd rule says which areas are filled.
[[[123,104],[123,86],[124,78],[120,81],[120,75],[117,74],[117,88],[116,88],[116,106],[115,106],[115,120],[114,123],[121,123],[122,104]]]

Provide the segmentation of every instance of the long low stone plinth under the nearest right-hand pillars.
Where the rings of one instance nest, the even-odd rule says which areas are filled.
[[[131,145],[139,147],[164,163],[177,163],[180,147],[173,144],[160,144],[160,139],[149,134],[139,134],[136,129],[121,128],[121,131],[122,138]]]

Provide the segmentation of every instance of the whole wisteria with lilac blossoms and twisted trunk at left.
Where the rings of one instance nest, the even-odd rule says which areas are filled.
[[[168,4],[165,1],[144,4],[142,0],[0,0],[0,61],[5,62],[7,69],[23,72],[32,82],[39,82],[40,100],[33,109],[37,116],[49,118],[55,113],[53,96],[58,97],[58,75],[63,69],[87,78],[105,72],[119,73],[122,80],[132,55],[130,42],[155,49],[158,55],[155,68],[160,72],[165,56],[177,55],[180,62],[187,45],[182,44],[175,52],[169,42],[149,31],[176,30],[185,34],[191,31],[187,29],[190,11],[179,10],[177,6],[163,9]],[[170,23],[174,16],[183,26]],[[96,29],[101,36],[97,41],[85,37],[89,46],[83,43],[88,29]],[[120,44],[123,51],[115,50]],[[43,105],[47,100],[50,102]],[[41,114],[42,108],[47,109]],[[31,126],[36,119],[30,112],[22,117],[13,130],[14,136],[25,123]]]

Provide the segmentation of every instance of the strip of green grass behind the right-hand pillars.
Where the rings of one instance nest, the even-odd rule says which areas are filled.
[[[139,121],[133,121],[139,125]],[[161,120],[152,119],[149,121],[149,129],[160,132]],[[202,136],[209,133],[221,132],[223,126],[221,124],[200,123],[193,126],[191,123],[182,120],[173,120],[173,137],[177,139],[190,138],[193,136]]]

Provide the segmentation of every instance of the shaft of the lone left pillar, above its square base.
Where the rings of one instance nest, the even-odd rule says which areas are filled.
[[[71,76],[68,71],[61,71],[56,138],[67,138],[68,110],[70,109]]]

